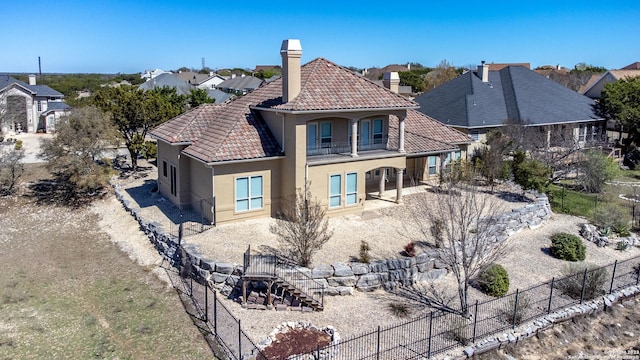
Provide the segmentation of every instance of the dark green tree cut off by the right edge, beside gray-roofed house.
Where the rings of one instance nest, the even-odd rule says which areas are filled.
[[[607,120],[620,122],[632,144],[640,144],[640,77],[606,84],[596,111]]]

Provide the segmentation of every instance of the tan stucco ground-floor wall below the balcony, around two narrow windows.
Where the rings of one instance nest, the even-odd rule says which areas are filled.
[[[350,213],[362,212],[366,199],[366,178],[367,171],[387,167],[404,169],[406,158],[399,156],[395,158],[374,159],[366,161],[353,161],[345,163],[335,163],[327,165],[310,166],[309,190],[311,196],[317,198],[326,207],[327,215],[336,216]],[[357,202],[347,205],[346,203],[346,176],[349,173],[357,173]],[[331,175],[341,175],[340,206],[329,206],[329,178]]]

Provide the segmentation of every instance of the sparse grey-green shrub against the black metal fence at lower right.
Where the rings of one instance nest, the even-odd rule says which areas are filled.
[[[585,278],[585,270],[586,278]],[[562,269],[562,279],[556,282],[556,287],[572,299],[594,299],[604,293],[603,288],[609,280],[605,268],[594,264],[569,264]],[[582,285],[584,283],[584,295]]]

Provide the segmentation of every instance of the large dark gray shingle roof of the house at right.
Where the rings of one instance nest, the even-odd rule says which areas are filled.
[[[418,111],[463,128],[593,121],[593,100],[521,66],[489,71],[483,83],[467,72],[415,98]]]

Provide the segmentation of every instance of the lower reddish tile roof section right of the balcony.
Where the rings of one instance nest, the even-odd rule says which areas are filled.
[[[471,139],[416,110],[409,110],[405,119],[404,148],[407,154],[424,154],[459,150],[454,144],[468,144]],[[398,118],[389,118],[389,147],[398,146]]]

